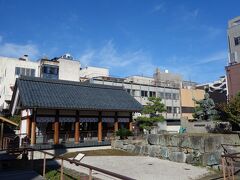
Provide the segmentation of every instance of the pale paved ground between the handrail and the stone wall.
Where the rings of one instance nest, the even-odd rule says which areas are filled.
[[[145,156],[87,156],[81,162],[140,180],[197,179],[208,173],[206,168]],[[64,162],[64,167],[89,172],[68,162]],[[93,175],[101,179],[113,179],[98,172],[93,172]]]

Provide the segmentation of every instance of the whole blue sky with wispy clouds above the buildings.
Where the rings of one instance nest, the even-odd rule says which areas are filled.
[[[239,0],[0,0],[0,56],[70,53],[113,76],[152,76],[159,67],[209,82],[225,73],[227,22],[239,7]]]

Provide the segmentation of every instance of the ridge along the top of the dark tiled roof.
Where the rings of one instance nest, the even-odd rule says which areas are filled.
[[[51,84],[63,84],[63,85],[65,84],[65,85],[84,86],[84,87],[91,87],[91,88],[123,90],[123,87],[118,87],[118,86],[111,86],[111,85],[105,85],[105,84],[92,84],[92,83],[86,83],[86,82],[68,81],[68,80],[61,80],[61,79],[44,79],[41,77],[29,77],[29,76],[20,76],[18,79],[25,80],[25,81],[51,83]]]

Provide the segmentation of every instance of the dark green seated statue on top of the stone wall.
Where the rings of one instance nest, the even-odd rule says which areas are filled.
[[[205,90],[204,99],[197,101],[193,98],[193,101],[198,104],[195,108],[195,112],[193,117],[199,121],[212,121],[214,117],[217,115],[217,111],[215,109],[214,101],[209,97],[208,91]]]

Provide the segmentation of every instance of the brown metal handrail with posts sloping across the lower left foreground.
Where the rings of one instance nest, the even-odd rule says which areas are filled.
[[[101,172],[103,174],[106,174],[106,175],[109,175],[109,176],[112,176],[112,177],[115,177],[115,178],[118,178],[118,179],[134,180],[133,178],[130,178],[130,177],[127,177],[127,176],[124,176],[124,175],[121,175],[121,174],[117,174],[117,173],[114,173],[114,172],[111,172],[111,171],[108,171],[108,170],[105,170],[105,169],[101,169],[101,168],[98,168],[98,167],[95,167],[95,166],[92,166],[92,165],[77,162],[75,160],[65,158],[61,155],[57,156],[55,154],[52,154],[52,153],[49,153],[49,152],[46,152],[46,151],[43,151],[43,150],[35,150],[33,148],[19,148],[19,151],[26,151],[26,150],[31,151],[31,152],[38,151],[38,152],[43,153],[44,154],[44,166],[46,165],[46,159],[45,159],[46,155],[52,156],[54,159],[61,159],[62,160],[62,162],[61,162],[61,179],[63,178],[62,177],[62,175],[63,175],[63,160],[65,160],[65,161],[70,162],[71,164],[75,164],[76,166],[82,166],[82,167],[88,168],[89,169],[89,179],[92,179],[92,170],[95,170],[95,171]],[[32,157],[33,157],[33,155],[32,155]],[[45,167],[44,167],[43,172],[45,173]],[[45,177],[45,174],[43,174],[43,176]]]

